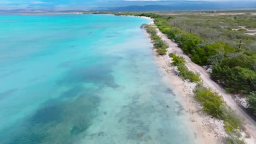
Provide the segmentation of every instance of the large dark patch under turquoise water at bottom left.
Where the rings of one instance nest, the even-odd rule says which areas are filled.
[[[96,116],[101,101],[97,93],[80,93],[79,88],[74,88],[64,92],[59,99],[47,101],[25,122],[15,125],[17,130],[13,130],[13,136],[4,144],[73,143],[73,137],[84,134]],[[74,95],[75,99],[63,101],[62,98],[69,94]]]

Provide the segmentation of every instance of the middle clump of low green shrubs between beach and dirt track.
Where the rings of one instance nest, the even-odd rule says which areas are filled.
[[[177,66],[179,74],[182,79],[189,80],[190,82],[200,82],[200,74],[193,73],[185,66],[185,60],[181,56],[176,56],[174,53],[170,53],[169,56],[172,58],[172,65]]]

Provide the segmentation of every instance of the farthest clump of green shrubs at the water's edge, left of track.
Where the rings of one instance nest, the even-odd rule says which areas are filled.
[[[162,40],[158,36],[158,32],[156,31],[156,28],[147,24],[143,24],[141,28],[145,28],[146,31],[150,34],[150,38],[152,40],[152,43],[154,47],[157,49],[156,52],[158,52],[159,55],[166,55],[167,48],[169,47],[164,40]]]

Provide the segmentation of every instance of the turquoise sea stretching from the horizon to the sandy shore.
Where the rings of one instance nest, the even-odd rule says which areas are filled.
[[[148,22],[0,14],[0,143],[194,143]]]

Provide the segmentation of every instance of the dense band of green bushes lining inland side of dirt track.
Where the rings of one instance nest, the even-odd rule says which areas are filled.
[[[256,115],[256,50],[201,38],[168,23],[172,16],[133,15],[152,17],[160,31],[178,43],[194,63],[211,65],[212,78],[222,83],[228,92],[246,94],[249,111]]]

